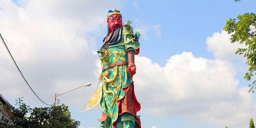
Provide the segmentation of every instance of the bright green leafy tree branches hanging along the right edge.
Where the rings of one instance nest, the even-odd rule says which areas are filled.
[[[223,28],[228,34],[231,34],[230,41],[245,44],[247,48],[237,49],[236,54],[243,55],[246,58],[246,64],[249,70],[245,73],[244,79],[250,81],[252,76],[256,75],[256,14],[245,13],[238,15],[237,19],[229,19]],[[249,85],[249,92],[254,92],[256,81]]]

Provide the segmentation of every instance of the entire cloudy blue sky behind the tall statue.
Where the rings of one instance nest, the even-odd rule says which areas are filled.
[[[225,38],[228,35],[222,32],[227,19],[254,12],[255,0],[242,0],[238,3],[234,0],[115,2],[2,1],[5,4],[0,5],[0,14],[6,17],[0,21],[3,23],[0,24],[1,34],[10,43],[10,49],[28,81],[47,102],[52,102],[50,99],[53,99],[54,92],[65,92],[83,83],[97,83],[97,55],[92,51],[101,46],[106,34],[107,9],[117,8],[123,15],[123,21],[131,20],[134,29],[141,31],[141,51],[136,60],[138,75],[134,76],[134,81],[135,85],[136,80],[140,84],[136,94],[142,103],[139,115],[143,128],[222,128],[225,125],[240,128],[248,124],[249,117],[255,117],[255,112],[251,112],[251,109],[255,110],[255,96],[245,93],[248,82],[242,79],[246,65],[241,57],[232,54],[234,51],[231,49],[236,49],[238,45],[230,44]],[[11,33],[17,36],[13,37]],[[6,90],[0,93],[12,104],[15,104],[13,100],[16,97],[24,96],[28,104],[43,106],[29,94],[31,92],[2,46],[0,50],[4,54],[0,56],[0,64],[3,65],[0,71],[4,72],[2,78],[5,78],[0,79],[0,82],[6,83],[3,86]],[[206,65],[205,70],[201,71],[199,64],[202,67]],[[150,72],[152,74],[146,73],[149,70],[147,67],[153,68]],[[226,71],[223,76],[221,72],[211,72],[223,69]],[[149,79],[150,75],[155,79]],[[192,79],[194,77],[197,79]],[[151,81],[152,85],[147,81]],[[211,86],[204,89],[208,86],[204,83]],[[186,90],[186,87],[189,89]],[[197,90],[197,87],[203,89]],[[80,120],[83,128],[99,126],[96,120],[101,114],[99,107],[84,113],[78,112],[94,88],[79,89],[60,97],[63,103],[70,106],[72,117]],[[46,89],[49,90],[41,91]],[[176,89],[186,91],[179,92]],[[203,91],[208,89],[214,96],[204,94]],[[170,90],[170,94],[163,90]],[[177,97],[173,96],[175,90],[179,92]],[[143,99],[145,97],[153,101]],[[164,98],[167,98],[166,102]],[[234,107],[236,105],[241,106]],[[223,115],[216,115],[214,108],[215,113]],[[226,112],[224,108],[230,108],[230,111]]]

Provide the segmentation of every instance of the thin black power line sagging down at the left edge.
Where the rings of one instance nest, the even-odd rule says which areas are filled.
[[[15,62],[13,56],[11,55],[11,52],[10,52],[10,50],[8,49],[7,45],[5,44],[5,41],[3,40],[3,37],[2,37],[2,35],[1,35],[1,33],[0,33],[0,36],[1,36],[1,40],[2,40],[3,44],[5,45],[5,48],[6,48],[7,52],[9,53],[9,55],[10,55],[10,57],[11,57],[11,60],[13,61],[14,65],[16,66],[17,70],[19,71],[19,74],[21,75],[21,77],[23,78],[23,80],[25,81],[25,83],[28,85],[30,91],[32,91],[32,93],[36,96],[36,98],[37,98],[38,100],[40,100],[42,103],[44,103],[44,104],[46,104],[46,105],[53,105],[53,104],[47,104],[47,103],[45,103],[42,99],[40,99],[40,98],[37,96],[36,92],[34,92],[34,90],[32,89],[32,87],[29,85],[28,81],[25,79],[24,75],[21,73],[21,70],[19,70],[19,67],[18,67],[17,63]]]

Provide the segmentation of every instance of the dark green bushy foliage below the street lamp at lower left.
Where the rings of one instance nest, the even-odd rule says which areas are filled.
[[[0,128],[78,128],[80,125],[79,121],[71,118],[68,106],[64,104],[31,108],[21,98],[16,101],[18,108],[6,106],[14,117],[10,120],[2,117]]]

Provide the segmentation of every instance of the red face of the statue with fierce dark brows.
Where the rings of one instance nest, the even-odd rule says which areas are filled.
[[[115,31],[115,29],[121,28],[123,26],[122,16],[119,14],[110,15],[107,19],[107,24],[110,28],[109,33],[112,33],[112,31]]]

